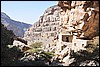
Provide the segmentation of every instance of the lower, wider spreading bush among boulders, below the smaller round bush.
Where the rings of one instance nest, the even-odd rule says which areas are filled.
[[[29,49],[29,50],[25,51],[25,53],[30,53],[32,56],[35,56],[35,61],[36,60],[48,61],[49,59],[51,59],[54,56],[54,53],[45,52],[45,51],[43,51],[43,49],[39,49],[39,48]]]

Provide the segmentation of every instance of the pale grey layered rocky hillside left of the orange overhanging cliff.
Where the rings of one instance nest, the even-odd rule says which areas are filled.
[[[24,39],[29,43],[35,41],[44,44],[53,43],[53,39],[60,29],[60,10],[61,8],[57,5],[46,9],[40,19],[25,32]]]

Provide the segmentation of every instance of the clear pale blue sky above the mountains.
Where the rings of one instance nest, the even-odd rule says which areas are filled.
[[[11,19],[33,24],[38,21],[44,11],[58,1],[1,1],[1,12]]]

